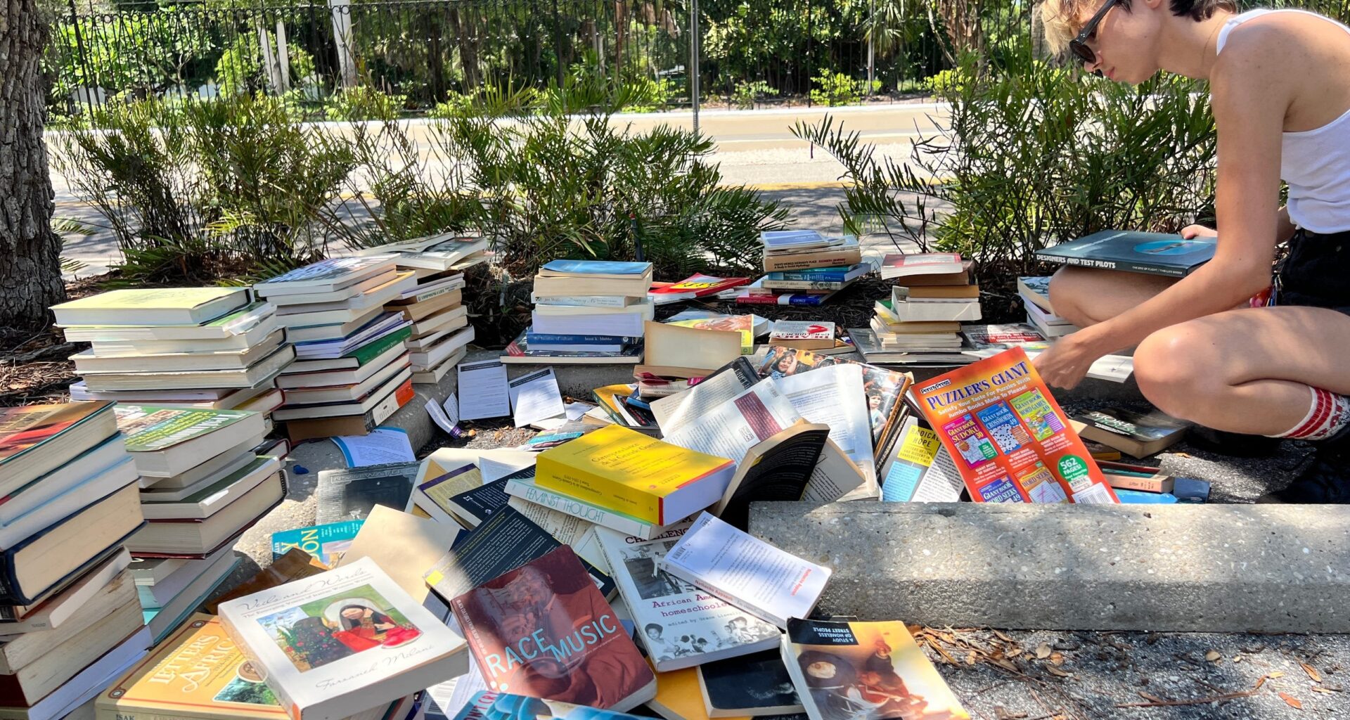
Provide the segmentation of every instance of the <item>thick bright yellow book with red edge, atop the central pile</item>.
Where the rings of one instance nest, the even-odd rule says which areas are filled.
[[[667,497],[734,466],[726,458],[686,450],[626,427],[606,426],[540,453],[535,482],[666,525],[680,519],[666,516]]]

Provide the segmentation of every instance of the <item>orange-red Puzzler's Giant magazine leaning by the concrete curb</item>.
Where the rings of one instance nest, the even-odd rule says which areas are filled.
[[[976,503],[1119,503],[1021,347],[915,386]]]

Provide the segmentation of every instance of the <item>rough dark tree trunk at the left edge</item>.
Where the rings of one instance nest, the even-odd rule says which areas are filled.
[[[0,330],[31,328],[66,299],[42,140],[49,27],[35,0],[0,3]]]

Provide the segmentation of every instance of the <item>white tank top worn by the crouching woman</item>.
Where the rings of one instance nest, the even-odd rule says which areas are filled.
[[[1350,27],[1315,12],[1250,9],[1223,23],[1215,43],[1215,54],[1223,50],[1223,43],[1234,27],[1272,12],[1312,15],[1350,32]],[[1285,132],[1280,153],[1280,177],[1289,184],[1289,220],[1293,224],[1312,232],[1350,230],[1350,108],[1322,127]]]

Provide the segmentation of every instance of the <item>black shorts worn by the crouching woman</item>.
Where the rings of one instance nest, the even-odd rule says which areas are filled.
[[[1350,315],[1350,231],[1299,230],[1276,270],[1276,305],[1328,308]]]

